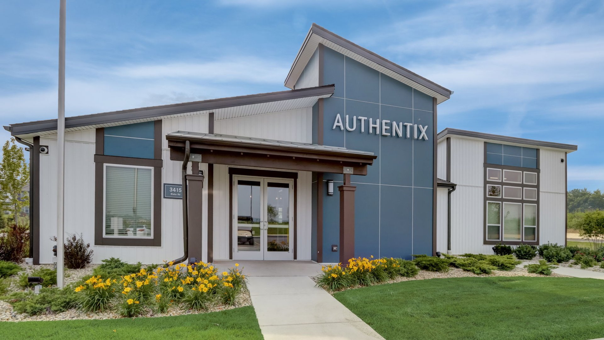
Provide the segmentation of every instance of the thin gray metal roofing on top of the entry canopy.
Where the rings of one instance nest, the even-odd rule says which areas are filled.
[[[188,131],[175,131],[166,134],[166,139],[170,137],[181,137],[180,139],[195,139],[195,140],[208,140],[212,142],[235,142],[235,143],[246,143],[249,145],[262,145],[262,146],[280,146],[283,148],[294,148],[301,150],[310,151],[323,151],[323,152],[334,152],[338,154],[350,154],[350,155],[362,155],[362,156],[373,156],[377,158],[373,152],[352,150],[347,148],[339,148],[338,146],[329,145],[318,145],[311,143],[301,142],[288,142],[285,140],[274,140],[274,139],[263,139],[254,137],[242,137],[242,136],[231,136],[226,134],[207,134],[202,132],[188,132]]]

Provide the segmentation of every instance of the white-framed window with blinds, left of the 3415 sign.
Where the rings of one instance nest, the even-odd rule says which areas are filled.
[[[153,169],[105,166],[105,237],[152,237]]]

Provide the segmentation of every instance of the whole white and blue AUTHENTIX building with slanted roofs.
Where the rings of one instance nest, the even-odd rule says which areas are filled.
[[[315,24],[284,85],[66,118],[65,232],[83,235],[94,263],[337,263],[565,242],[577,146],[438,133],[452,91]],[[52,263],[57,120],[5,128],[31,150],[32,255]]]

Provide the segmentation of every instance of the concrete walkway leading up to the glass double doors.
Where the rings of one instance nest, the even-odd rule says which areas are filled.
[[[216,261],[232,267],[236,261]],[[249,295],[266,340],[384,339],[309,276],[321,272],[312,261],[238,261],[248,276]]]

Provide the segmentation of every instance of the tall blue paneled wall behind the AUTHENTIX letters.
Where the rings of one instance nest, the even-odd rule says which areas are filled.
[[[368,257],[410,258],[414,253],[432,253],[432,185],[434,136],[432,97],[379,73],[356,60],[330,48],[323,48],[323,83],[335,84],[332,97],[323,100],[323,144],[371,151],[377,155],[366,176],[354,175],[355,194],[355,255]],[[390,120],[397,123],[428,125],[428,140],[381,136],[368,133],[368,120],[361,132],[332,129],[340,114],[344,127],[345,115],[352,128],[353,116]],[[313,108],[313,126],[318,127],[318,108]],[[381,124],[380,124],[381,126]],[[391,123],[388,132],[392,132]],[[418,131],[419,135],[419,131]],[[313,142],[318,134],[313,131]],[[324,181],[341,185],[341,174],[324,174]],[[317,183],[317,185],[326,185]],[[323,262],[338,262],[339,195],[323,189]],[[313,194],[316,195],[316,190]],[[316,203],[316,198],[313,199]],[[316,229],[313,229],[316,230]],[[315,231],[316,234],[316,231]],[[313,235],[316,240],[316,235]],[[313,249],[313,253],[316,250]],[[316,255],[313,255],[316,256]]]

